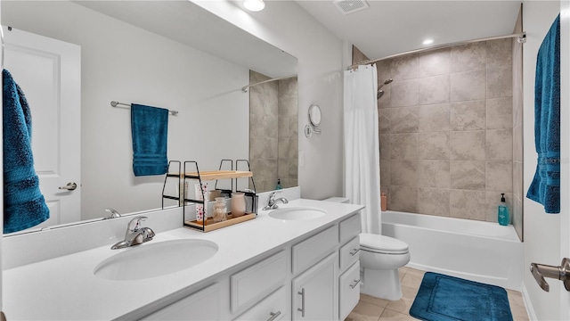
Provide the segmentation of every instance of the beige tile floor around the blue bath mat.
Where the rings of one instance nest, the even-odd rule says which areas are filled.
[[[400,268],[402,299],[391,301],[361,294],[358,305],[346,317],[345,321],[417,321],[416,318],[410,317],[409,312],[423,277],[424,271]],[[513,319],[515,321],[528,321],[521,293],[512,290],[507,290],[507,293]]]

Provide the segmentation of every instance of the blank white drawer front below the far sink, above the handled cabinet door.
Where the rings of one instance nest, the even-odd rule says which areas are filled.
[[[321,233],[293,245],[293,274],[304,271],[324,259],[338,244],[338,226],[330,226]]]

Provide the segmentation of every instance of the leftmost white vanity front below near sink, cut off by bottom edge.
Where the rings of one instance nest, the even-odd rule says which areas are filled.
[[[220,284],[194,292],[141,320],[219,320]]]

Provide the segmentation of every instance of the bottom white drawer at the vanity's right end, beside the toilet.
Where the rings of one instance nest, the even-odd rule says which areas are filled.
[[[360,262],[354,263],[338,279],[338,316],[344,320],[360,299]]]

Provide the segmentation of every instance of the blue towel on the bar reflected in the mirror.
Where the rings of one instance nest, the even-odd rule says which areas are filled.
[[[166,174],[168,110],[131,104],[134,176]]]

